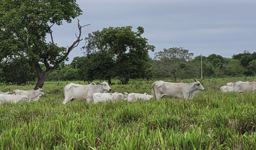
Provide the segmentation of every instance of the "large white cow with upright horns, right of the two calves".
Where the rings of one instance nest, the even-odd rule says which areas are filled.
[[[195,79],[194,81],[193,83],[156,81],[152,84],[151,95],[155,96],[158,100],[162,97],[192,99],[195,93],[205,90],[199,81]]]

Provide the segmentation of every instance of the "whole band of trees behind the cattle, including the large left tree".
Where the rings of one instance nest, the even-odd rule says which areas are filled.
[[[55,9],[52,9],[55,8]],[[0,2],[0,82],[24,84],[36,82],[42,88],[45,81],[92,82],[118,79],[127,84],[130,79],[200,77],[200,56],[182,47],[156,52],[155,46],[142,36],[144,28],[109,27],[81,38],[82,26],[77,19],[78,34],[68,47],[54,42],[52,26],[72,22],[82,14],[75,1],[1,1]],[[46,42],[46,35],[50,42]],[[82,57],[70,64],[68,54],[84,41]],[[203,56],[204,77],[255,76],[256,53],[234,54],[225,58],[218,54]]]

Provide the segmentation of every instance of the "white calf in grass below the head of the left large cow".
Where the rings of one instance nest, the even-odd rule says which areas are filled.
[[[122,99],[122,94],[120,93],[93,93],[92,102],[106,102],[106,101],[119,101]]]

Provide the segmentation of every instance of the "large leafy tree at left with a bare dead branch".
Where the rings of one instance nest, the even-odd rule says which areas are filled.
[[[58,47],[53,42],[51,27],[53,24],[60,26],[63,21],[71,23],[71,19],[80,14],[82,10],[76,1],[71,0],[1,1],[0,58],[18,56],[22,61],[32,64],[37,74],[35,89],[42,88],[47,75],[67,60],[68,54],[82,41],[81,29],[84,26],[80,26],[77,19],[79,34],[68,48]],[[51,36],[49,43],[46,42],[47,34]],[[45,71],[40,63],[45,65]]]

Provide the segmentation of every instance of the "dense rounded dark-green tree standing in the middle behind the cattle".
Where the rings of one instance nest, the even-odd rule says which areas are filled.
[[[147,43],[141,36],[143,33],[143,27],[137,27],[134,32],[131,26],[109,27],[89,33],[82,47],[86,55],[83,60],[95,64],[83,68],[93,70],[90,76],[109,82],[117,76],[122,84],[127,84],[130,79],[150,78],[148,51],[154,51],[155,47]]]

